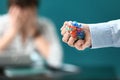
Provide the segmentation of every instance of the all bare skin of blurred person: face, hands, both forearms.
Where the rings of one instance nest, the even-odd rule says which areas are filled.
[[[27,37],[32,37],[38,51],[47,58],[49,56],[49,42],[41,35],[33,37],[37,30],[37,9],[34,7],[21,9],[14,5],[10,7],[8,13],[10,15],[10,28],[8,33],[0,37],[0,51],[4,51],[19,33],[23,44]]]

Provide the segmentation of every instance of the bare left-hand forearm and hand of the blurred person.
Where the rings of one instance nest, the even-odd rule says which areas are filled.
[[[14,11],[16,11],[16,14],[13,14],[15,13]],[[14,8],[13,10],[12,8],[10,9],[9,13],[11,17],[10,18],[11,24],[10,24],[8,33],[5,33],[3,37],[0,38],[0,51],[3,51],[11,43],[11,41],[15,38],[16,34],[21,29],[21,26],[20,26],[22,25],[21,23],[23,23],[22,20],[20,19],[21,17],[18,16],[20,14],[19,10],[17,10],[16,8]]]

